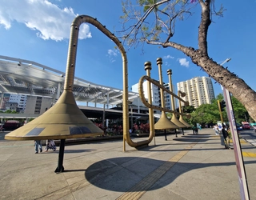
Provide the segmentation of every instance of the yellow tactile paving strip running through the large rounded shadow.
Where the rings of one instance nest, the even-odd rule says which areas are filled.
[[[195,146],[196,143],[192,143],[190,146],[187,146],[184,150],[174,155],[174,157],[170,158],[167,162],[163,163],[162,166],[159,166],[158,169],[154,170],[150,174],[148,174],[145,178],[143,178],[140,182],[138,182],[135,186],[133,186],[126,193],[122,194],[117,200],[124,199],[133,199],[137,200],[142,197],[143,194],[146,193],[146,190],[150,189],[151,186],[154,185],[172,166],[175,165],[190,149]]]

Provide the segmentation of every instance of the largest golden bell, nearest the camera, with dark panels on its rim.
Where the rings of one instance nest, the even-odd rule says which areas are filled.
[[[72,91],[64,90],[58,102],[44,114],[6,134],[10,140],[84,138],[103,134],[78,108]]]

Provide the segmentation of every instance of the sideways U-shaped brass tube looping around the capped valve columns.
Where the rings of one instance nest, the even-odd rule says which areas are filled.
[[[162,86],[161,84],[159,84],[158,82],[154,81],[154,79],[150,78],[149,76],[145,75],[145,76],[142,76],[139,81],[138,81],[138,94],[139,94],[139,97],[141,98],[143,104],[148,107],[148,108],[152,108],[152,109],[155,109],[155,110],[162,110],[162,111],[165,111],[165,112],[169,112],[169,113],[173,113],[173,114],[179,114],[179,115],[184,115],[184,116],[188,116],[189,114],[183,114],[183,113],[179,113],[175,110],[170,110],[170,109],[167,109],[165,107],[161,107],[161,106],[154,106],[154,105],[151,105],[149,102],[146,101],[146,98],[144,96],[144,91],[143,91],[143,82],[144,80],[147,80],[148,82],[151,82],[153,83],[155,86],[158,86],[160,87],[162,90],[165,90],[167,93],[169,93],[170,95],[173,95],[175,98],[178,98],[180,101],[182,102],[185,102],[185,104],[187,105],[188,102],[184,101],[182,98],[178,97],[176,94],[174,94],[173,92],[171,92],[170,90],[166,89],[165,86]]]

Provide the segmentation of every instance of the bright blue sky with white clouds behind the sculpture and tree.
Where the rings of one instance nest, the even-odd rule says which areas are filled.
[[[220,3],[220,1],[216,1]],[[224,18],[214,18],[208,34],[210,57],[242,78],[256,90],[256,1],[222,1]],[[218,5],[217,5],[218,6]],[[121,30],[121,1],[98,0],[1,0],[0,55],[41,63],[66,71],[70,24],[78,14],[97,18],[108,30]],[[174,42],[198,48],[200,13],[178,22]],[[75,76],[100,85],[122,89],[122,57],[114,42],[90,24],[80,27]],[[166,70],[173,71],[172,82],[208,76],[185,54],[169,48],[145,45],[127,50],[129,87],[145,75],[144,62],[152,62],[152,78],[158,79],[157,58],[163,58],[162,78],[168,82]],[[213,81],[214,83],[214,81]],[[214,84],[215,96],[222,92]]]

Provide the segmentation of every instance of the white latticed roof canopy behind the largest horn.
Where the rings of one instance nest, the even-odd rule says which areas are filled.
[[[0,55],[0,92],[58,98],[62,94],[65,73],[37,62]],[[78,102],[117,105],[122,103],[122,90],[74,78],[74,98]],[[107,99],[109,97],[109,100]],[[129,92],[129,100],[138,93]]]

